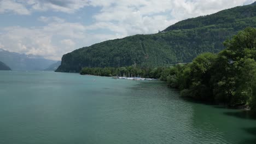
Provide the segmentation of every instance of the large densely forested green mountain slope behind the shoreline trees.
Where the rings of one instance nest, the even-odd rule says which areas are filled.
[[[256,5],[246,5],[178,22],[156,34],[133,35],[83,47],[63,55],[56,71],[83,67],[156,67],[191,62],[203,52],[217,53],[223,41],[245,27],[256,27]]]

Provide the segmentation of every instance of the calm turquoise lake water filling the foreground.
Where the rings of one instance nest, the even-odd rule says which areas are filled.
[[[0,143],[255,142],[250,113],[184,100],[164,82],[0,71]]]

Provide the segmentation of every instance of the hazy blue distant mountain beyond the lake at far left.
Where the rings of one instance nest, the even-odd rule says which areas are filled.
[[[43,70],[57,62],[40,56],[9,52],[3,49],[0,49],[0,61],[12,70]]]

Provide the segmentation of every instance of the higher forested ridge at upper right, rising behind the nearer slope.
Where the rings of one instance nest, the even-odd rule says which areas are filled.
[[[193,19],[177,22],[175,25],[167,27],[163,32],[191,29],[191,28],[232,28],[234,31],[239,31],[243,27],[248,27],[255,19],[249,19],[256,16],[256,2],[243,7],[236,7],[228,10],[219,11],[216,14],[199,16]]]

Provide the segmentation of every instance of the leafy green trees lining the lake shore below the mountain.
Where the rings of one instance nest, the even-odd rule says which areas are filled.
[[[246,28],[224,42],[226,49],[202,53],[193,62],[171,67],[144,69],[83,68],[80,74],[141,76],[166,81],[181,95],[229,106],[247,105],[256,109],[256,28]]]

